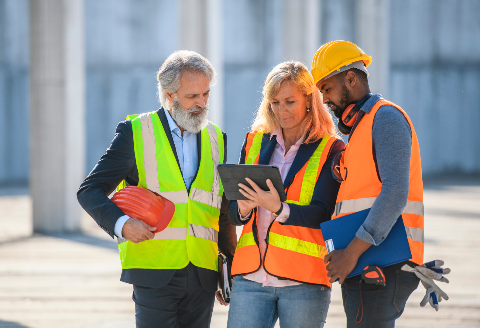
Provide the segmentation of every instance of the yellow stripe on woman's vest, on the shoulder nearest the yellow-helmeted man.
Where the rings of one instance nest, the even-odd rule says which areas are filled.
[[[309,205],[312,201],[313,189],[315,189],[315,184],[317,182],[318,165],[320,164],[322,152],[324,151],[324,148],[330,138],[331,137],[329,135],[324,134],[322,136],[322,141],[308,160],[307,168],[305,169],[305,174],[303,175],[303,181],[301,184],[300,198],[298,201],[299,205]]]

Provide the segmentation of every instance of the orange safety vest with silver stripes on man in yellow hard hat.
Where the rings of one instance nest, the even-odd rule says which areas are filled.
[[[408,236],[408,245],[412,253],[411,261],[423,263],[423,182],[421,177],[420,147],[415,129],[403,109],[384,99],[373,105],[369,114],[365,114],[348,141],[340,160],[340,170],[346,179],[342,181],[336,198],[332,219],[372,207],[382,190],[382,182],[377,172],[372,152],[373,118],[383,105],[396,107],[407,118],[412,131],[412,150],[410,156],[410,180],[407,205],[402,211],[402,219]]]

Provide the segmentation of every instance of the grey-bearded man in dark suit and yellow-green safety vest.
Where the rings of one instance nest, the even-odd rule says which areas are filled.
[[[207,120],[215,75],[198,53],[173,52],[157,74],[160,109],[119,123],[77,193],[96,223],[117,236],[120,281],[133,285],[136,327],[209,327],[218,249],[233,258],[237,236],[216,169],[227,157],[227,135]],[[156,227],[125,215],[108,199],[125,186],[174,203],[164,230],[154,234]],[[128,194],[119,191],[113,200]]]

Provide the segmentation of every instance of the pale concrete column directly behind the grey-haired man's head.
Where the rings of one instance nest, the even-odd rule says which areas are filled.
[[[180,48],[194,50],[215,67],[216,85],[210,92],[209,120],[224,126],[223,1],[182,0],[180,3]]]

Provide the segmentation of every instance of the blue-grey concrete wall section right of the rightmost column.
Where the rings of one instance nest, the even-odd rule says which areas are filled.
[[[391,99],[426,174],[480,171],[480,1],[392,1]]]

